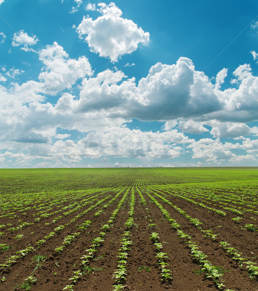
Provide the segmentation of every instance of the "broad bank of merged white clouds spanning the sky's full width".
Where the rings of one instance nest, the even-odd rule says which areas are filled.
[[[93,76],[86,57],[70,59],[56,42],[41,49],[38,55],[43,63],[38,81],[0,86],[0,134],[4,141],[0,149],[14,151],[13,154],[27,152],[25,163],[36,159],[56,166],[77,163],[83,159],[85,150],[86,157],[94,159],[115,154],[139,159],[173,159],[179,157],[189,143],[188,150],[196,159],[214,163],[255,161],[252,154],[258,151],[256,140],[243,138],[243,144],[223,144],[219,139],[195,142],[185,134],[208,132],[204,125],[212,126],[213,137],[257,134],[256,127],[249,128],[244,123],[258,119],[258,77],[252,74],[250,65],[241,65],[234,71],[236,88],[221,91],[227,69],[217,74],[213,85],[184,57],[173,65],[153,65],[137,84],[135,78],[128,79],[120,70],[106,69]],[[11,78],[21,71],[8,72]],[[7,77],[6,72],[4,76]],[[77,85],[79,79],[82,80],[77,87],[79,96],[74,96],[67,89]],[[45,102],[47,95],[58,93],[61,97],[56,104]],[[167,131],[142,132],[125,128],[125,123],[132,118],[166,121],[164,129]],[[223,122],[227,119],[229,121]],[[52,142],[53,138],[69,138],[69,132],[57,134],[58,128],[92,132],[81,139],[78,149],[78,143],[73,140]],[[93,143],[87,148],[89,142]],[[69,146],[77,154],[69,156]],[[234,149],[243,153],[237,156]],[[15,159],[15,156],[10,158]],[[0,159],[6,162],[7,156]]]

